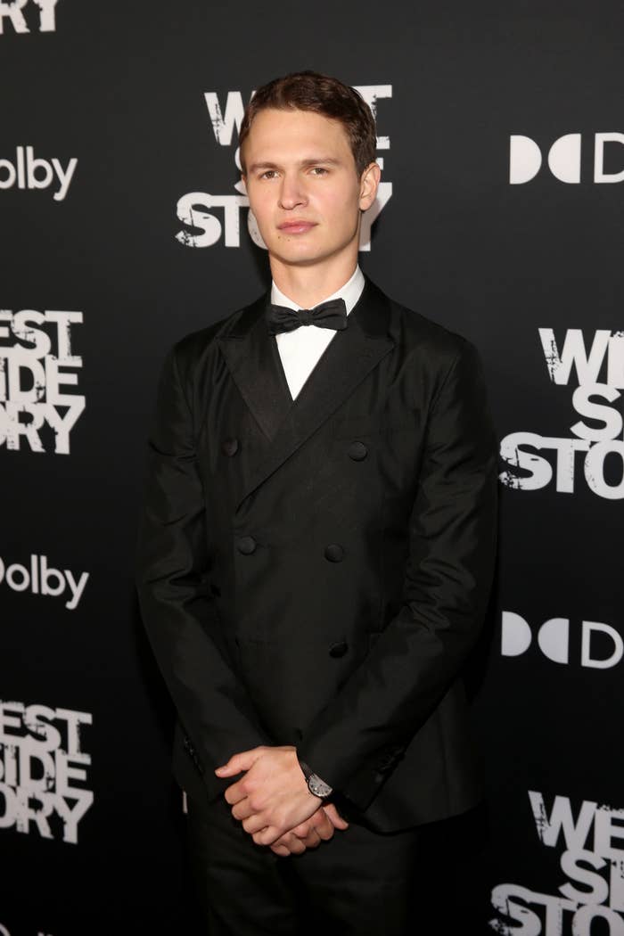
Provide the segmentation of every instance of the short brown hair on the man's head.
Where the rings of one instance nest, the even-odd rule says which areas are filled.
[[[241,152],[254,117],[261,110],[268,109],[312,110],[340,121],[349,138],[358,175],[375,160],[377,134],[370,107],[355,88],[342,84],[336,78],[329,78],[316,71],[297,71],[258,88],[245,108],[240,124]],[[242,155],[240,158],[244,172]]]

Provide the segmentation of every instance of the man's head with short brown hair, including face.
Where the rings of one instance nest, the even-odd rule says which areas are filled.
[[[239,140],[274,278],[304,266],[319,282],[345,282],[356,265],[362,212],[380,178],[369,106],[341,81],[288,75],[256,92]]]

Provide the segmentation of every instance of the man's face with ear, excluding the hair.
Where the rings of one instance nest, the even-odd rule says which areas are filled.
[[[357,251],[379,169],[358,178],[344,127],[308,110],[261,110],[244,143],[247,194],[271,259],[313,265]]]

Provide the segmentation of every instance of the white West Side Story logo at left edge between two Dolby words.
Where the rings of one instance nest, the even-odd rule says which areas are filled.
[[[0,309],[0,446],[69,454],[85,407],[76,392],[82,358],[72,353],[81,312]]]

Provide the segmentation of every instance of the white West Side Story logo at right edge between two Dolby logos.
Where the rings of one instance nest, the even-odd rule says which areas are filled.
[[[551,484],[572,494],[583,460],[589,490],[609,500],[624,498],[624,440],[620,389],[624,388],[624,331],[599,329],[588,339],[581,329],[567,329],[562,344],[553,329],[538,329],[548,376],[556,387],[568,387],[573,371],[578,386],[572,393],[575,412],[588,418],[570,426],[567,438],[516,431],[501,442],[507,468],[501,483],[515,490],[538,490]],[[602,374],[602,377],[601,377]],[[617,405],[616,405],[617,404]],[[548,458],[544,454],[548,453]],[[577,453],[582,453],[577,459]],[[607,469],[610,457],[611,468]],[[617,468],[615,467],[617,466]]]

